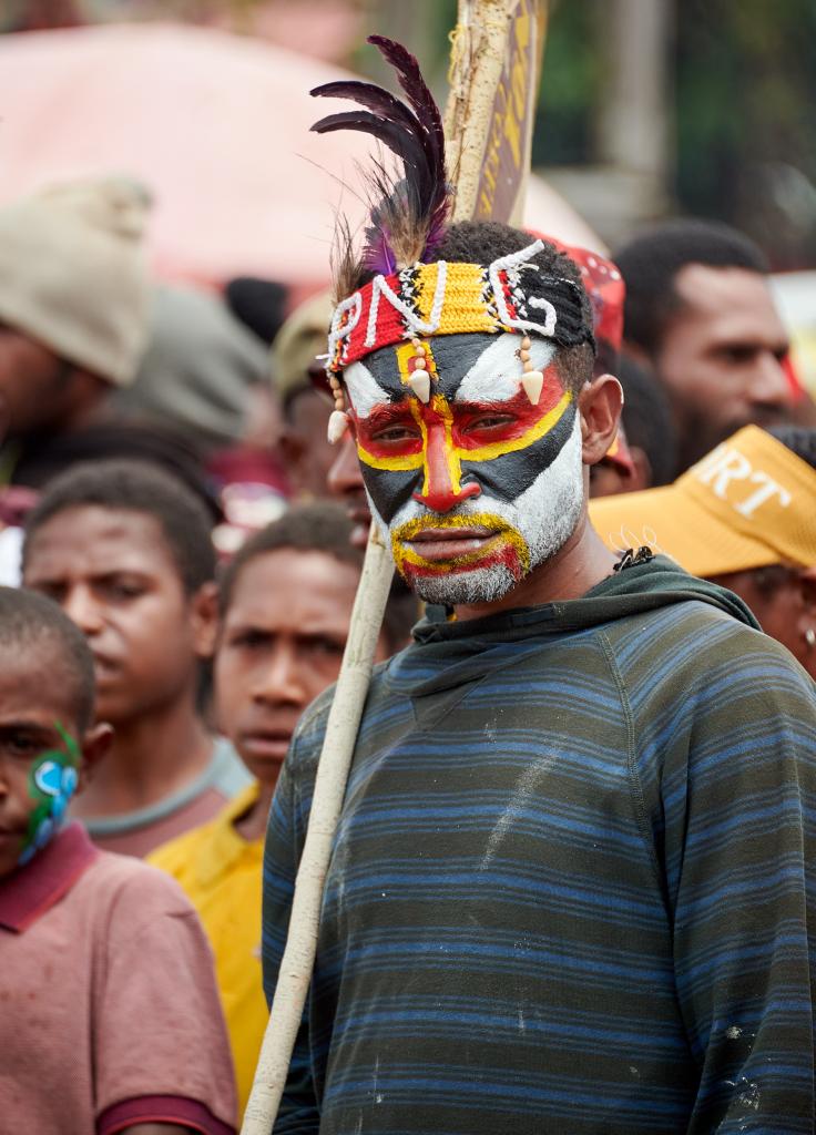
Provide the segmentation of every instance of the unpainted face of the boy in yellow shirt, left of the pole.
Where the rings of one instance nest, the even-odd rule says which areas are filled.
[[[279,548],[241,570],[216,650],[218,723],[274,783],[297,718],[339,673],[359,572],[323,552]]]

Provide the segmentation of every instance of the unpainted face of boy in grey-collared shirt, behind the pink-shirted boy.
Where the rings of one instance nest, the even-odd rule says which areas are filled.
[[[194,687],[203,615],[153,516],[95,505],[57,513],[28,543],[24,585],[87,638],[100,720],[155,714]]]

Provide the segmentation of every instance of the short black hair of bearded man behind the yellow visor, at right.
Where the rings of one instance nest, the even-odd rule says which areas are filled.
[[[624,342],[654,356],[670,318],[681,310],[674,280],[687,264],[742,268],[767,275],[763,251],[749,237],[718,221],[678,218],[636,236],[614,254],[626,285]]]

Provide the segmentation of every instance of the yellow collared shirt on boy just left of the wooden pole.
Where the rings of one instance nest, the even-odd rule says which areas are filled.
[[[261,982],[263,840],[250,843],[235,830],[256,800],[258,784],[251,784],[214,819],[148,857],[180,884],[210,940],[242,1116],[269,1016]]]

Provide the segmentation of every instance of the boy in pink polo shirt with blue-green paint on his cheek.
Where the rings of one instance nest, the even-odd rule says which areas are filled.
[[[212,959],[176,884],[99,851],[70,797],[102,755],[93,661],[50,600],[0,588],[0,1116],[37,1135],[229,1135]]]

